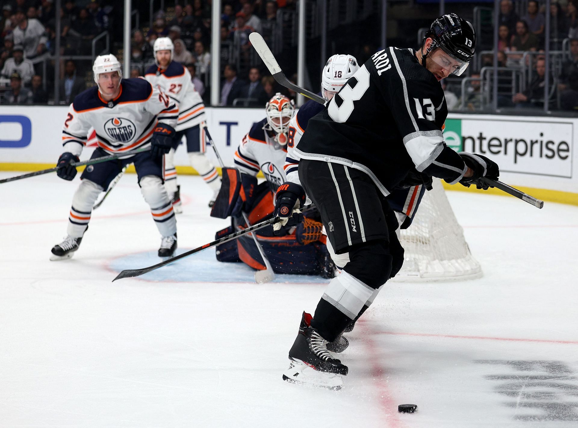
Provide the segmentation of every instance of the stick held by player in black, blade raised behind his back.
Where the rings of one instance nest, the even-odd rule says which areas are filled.
[[[297,85],[291,83],[287,79],[287,77],[283,73],[283,70],[281,70],[281,67],[277,63],[275,55],[273,55],[271,49],[269,49],[269,46],[267,46],[267,43],[265,43],[265,40],[263,40],[263,37],[260,34],[251,33],[249,35],[249,40],[251,40],[251,44],[253,44],[253,47],[255,48],[255,50],[257,51],[257,53],[267,66],[267,68],[269,69],[269,72],[271,72],[273,77],[275,77],[277,83],[283,85],[284,87],[292,91],[297,92],[298,94],[306,96],[307,98],[310,98],[313,101],[325,105],[327,99],[322,98],[317,94],[313,94],[313,92],[307,91],[306,89],[300,88]],[[498,188],[501,191],[509,193],[512,196],[516,196],[516,198],[521,199],[524,202],[527,202],[535,206],[536,208],[541,209],[544,206],[544,201],[534,198],[533,196],[528,195],[528,193],[524,193],[510,185],[507,185],[506,183],[502,183],[502,181],[491,180],[490,178],[486,177],[481,178],[481,180],[484,180],[487,184],[490,184],[492,187]]]

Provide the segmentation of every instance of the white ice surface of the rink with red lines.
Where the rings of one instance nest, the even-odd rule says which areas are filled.
[[[158,262],[133,174],[76,255],[50,262],[78,183],[0,185],[0,426],[578,426],[576,206],[447,192],[483,278],[388,284],[347,334],[349,375],[331,391],[281,380],[326,280],[255,284],[210,249],[111,282]],[[227,220],[209,217],[199,177],[180,184],[183,252]],[[399,414],[406,403],[418,411]]]

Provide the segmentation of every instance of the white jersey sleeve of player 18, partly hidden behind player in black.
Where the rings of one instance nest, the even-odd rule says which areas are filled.
[[[301,185],[301,181],[299,181],[299,174],[297,172],[301,156],[299,156],[298,152],[295,151],[295,148],[297,148],[297,144],[299,144],[299,140],[301,140],[303,132],[305,132],[305,129],[307,128],[309,119],[315,116],[324,108],[325,107],[323,104],[320,104],[317,101],[313,101],[311,99],[301,106],[301,108],[297,111],[297,114],[295,114],[295,116],[293,116],[289,122],[287,158],[285,165],[283,166],[283,170],[287,176],[287,181],[291,181],[291,183],[297,183]]]

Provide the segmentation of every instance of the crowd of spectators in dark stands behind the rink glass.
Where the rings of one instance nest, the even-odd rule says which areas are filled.
[[[517,11],[525,9],[525,13],[517,14],[511,0],[500,3],[497,63],[500,107],[540,107],[544,103],[545,6],[537,0],[520,1],[524,3],[518,3]],[[140,25],[132,33],[131,76],[141,76],[146,68],[154,65],[154,41],[169,37],[175,45],[173,59],[190,70],[195,88],[208,103],[212,91],[211,2],[168,0],[166,3],[165,10],[155,12],[150,21],[143,20],[146,25]],[[91,78],[93,50],[99,54],[108,47],[122,61],[122,40],[118,31],[113,31],[122,22],[119,2],[62,0],[58,11],[61,22],[58,53],[55,52],[54,0],[3,0],[1,4],[0,104],[53,103],[55,92],[59,94],[59,103],[68,104],[76,94],[94,84]],[[275,92],[295,98],[294,92],[280,87],[269,75],[251,49],[249,34],[257,31],[269,46],[279,46],[276,38],[281,31],[292,31],[293,21],[287,20],[287,16],[295,13],[296,8],[296,0],[223,0],[218,23],[221,86],[217,91],[221,106],[264,106]],[[114,25],[115,19],[118,25]],[[105,39],[100,37],[103,32],[110,35],[110,45],[105,46]],[[555,53],[565,51],[558,56],[562,59],[550,66],[549,105],[553,109],[575,110],[578,108],[578,0],[551,2],[550,49]],[[365,45],[357,53],[358,60],[365,61],[372,52],[372,48]],[[60,74],[55,79],[57,54],[60,54]],[[493,64],[493,55],[481,55],[477,68],[470,66],[467,75],[462,76],[469,79],[465,94],[458,93],[459,84],[455,84],[455,80],[453,86],[447,85],[450,109],[463,106],[477,110],[488,106],[493,83],[482,69]],[[525,73],[522,85],[520,79],[514,79],[513,72]],[[291,76],[291,80],[296,79],[297,76]],[[454,96],[451,90],[455,91]]]

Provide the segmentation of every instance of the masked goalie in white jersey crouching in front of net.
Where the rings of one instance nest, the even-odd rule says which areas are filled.
[[[273,195],[286,181],[283,164],[287,155],[288,125],[294,111],[293,103],[286,96],[275,94],[265,106],[266,117],[255,122],[243,137],[234,155],[236,168],[224,169],[223,186],[211,213],[213,217],[232,217],[232,226],[220,230],[217,236],[244,227],[241,213],[247,214],[250,224],[272,215]],[[257,185],[256,176],[260,171],[267,182]],[[287,230],[283,236],[273,236],[269,227],[261,229],[257,239],[276,273],[333,277],[319,215],[308,211],[306,216],[298,228]],[[219,245],[217,259],[242,261],[254,269],[265,269],[251,237]]]

